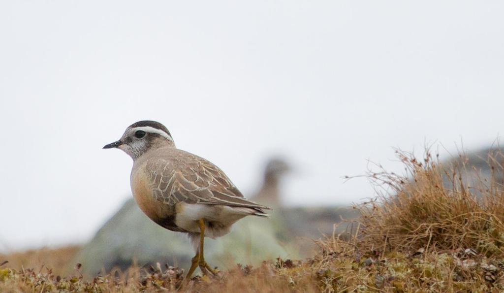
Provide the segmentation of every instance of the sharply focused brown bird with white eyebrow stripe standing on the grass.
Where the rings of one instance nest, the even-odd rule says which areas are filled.
[[[103,148],[118,148],[133,159],[131,189],[147,217],[168,230],[187,233],[195,256],[185,279],[197,267],[203,274],[217,275],[205,261],[205,237],[226,235],[245,216],[269,216],[265,210],[271,208],[247,200],[215,164],[176,148],[159,122],[136,122]]]

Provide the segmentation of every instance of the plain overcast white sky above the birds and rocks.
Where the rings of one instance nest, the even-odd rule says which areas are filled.
[[[503,127],[501,1],[2,1],[0,250],[85,241],[130,196],[102,150],[138,120],[253,193],[266,158],[291,205],[372,196],[392,147],[491,144]]]

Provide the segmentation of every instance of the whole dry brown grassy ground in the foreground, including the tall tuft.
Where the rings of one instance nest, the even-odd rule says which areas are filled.
[[[380,196],[357,206],[352,233],[333,233],[305,261],[237,266],[218,277],[195,277],[180,291],[194,292],[490,292],[504,291],[502,186],[464,164],[443,166],[398,152],[405,173],[381,170],[369,178]],[[502,154],[489,157],[502,173]],[[464,160],[462,160],[464,161]],[[476,175],[475,175],[476,174]],[[335,231],[336,231],[335,227]],[[1,260],[0,260],[1,261]],[[131,268],[84,279],[79,270],[60,278],[47,269],[0,267],[1,291],[175,291],[183,272],[172,267]]]

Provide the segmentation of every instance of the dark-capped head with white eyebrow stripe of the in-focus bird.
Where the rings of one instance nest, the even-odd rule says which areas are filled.
[[[168,129],[159,122],[139,121],[130,125],[118,141],[103,148],[121,149],[135,160],[148,150],[163,146],[175,146]]]

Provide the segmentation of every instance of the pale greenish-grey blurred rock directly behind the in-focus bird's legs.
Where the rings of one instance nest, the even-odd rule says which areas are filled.
[[[207,262],[226,268],[230,263],[258,264],[262,259],[286,257],[287,252],[276,241],[267,221],[245,218],[229,235],[217,240],[207,238]],[[94,275],[114,267],[125,269],[133,263],[144,267],[160,262],[186,268],[193,257],[194,250],[185,233],[169,231],[152,222],[131,199],[100,228],[72,263],[82,263],[84,272]]]

